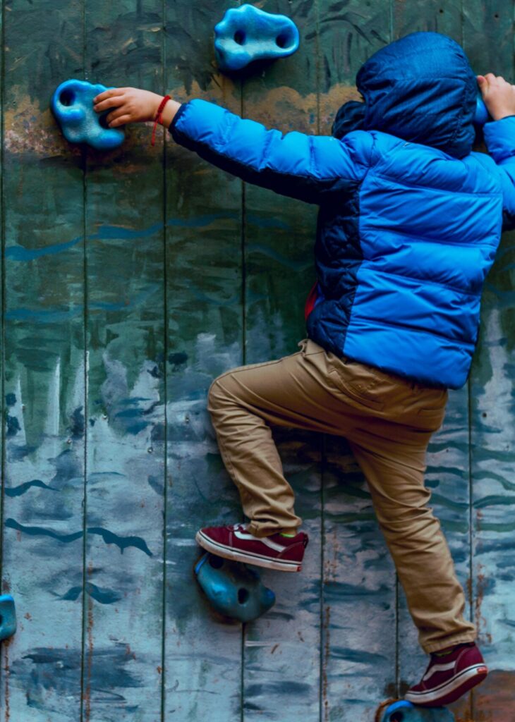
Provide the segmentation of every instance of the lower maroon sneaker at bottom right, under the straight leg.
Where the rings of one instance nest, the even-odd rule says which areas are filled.
[[[404,699],[422,707],[442,707],[485,679],[488,669],[474,642],[457,645],[452,652],[438,657],[432,654],[428,669]]]

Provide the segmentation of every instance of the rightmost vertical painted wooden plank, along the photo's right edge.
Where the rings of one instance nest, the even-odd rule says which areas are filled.
[[[464,46],[475,71],[514,82],[514,3],[472,0],[464,12]],[[470,375],[473,614],[490,669],[472,695],[471,717],[485,722],[515,714],[514,238],[504,235],[486,281]]]

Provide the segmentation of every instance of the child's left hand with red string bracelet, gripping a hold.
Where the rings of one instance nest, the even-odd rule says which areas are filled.
[[[144,123],[145,121],[153,121],[157,108],[163,100],[162,95],[157,95],[149,90],[139,90],[139,88],[113,88],[113,90],[105,90],[100,95],[93,98],[93,107],[97,113],[103,110],[113,108],[111,113],[106,117],[106,121],[110,128],[123,126],[126,123]],[[163,125],[168,121],[169,116],[172,118],[180,103],[174,100],[168,100],[165,106],[166,114],[163,113]],[[168,121],[168,125],[171,118]]]

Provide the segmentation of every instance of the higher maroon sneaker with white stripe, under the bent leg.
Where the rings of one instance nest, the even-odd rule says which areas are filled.
[[[195,539],[219,557],[281,572],[300,572],[308,545],[308,535],[303,531],[296,536],[272,534],[258,539],[243,524],[208,526],[197,531]]]

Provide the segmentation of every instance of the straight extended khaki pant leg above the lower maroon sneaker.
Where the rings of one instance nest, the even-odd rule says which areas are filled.
[[[403,427],[391,431],[394,438],[381,429],[370,440],[362,437],[360,444],[351,443],[351,448],[368,481],[420,645],[430,653],[471,642],[475,626],[464,619],[464,592],[440,523],[428,507],[424,471],[430,433],[419,430],[420,443],[413,444],[409,430],[411,443],[404,445]]]

